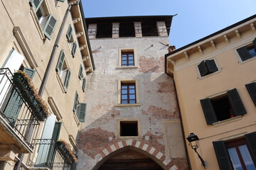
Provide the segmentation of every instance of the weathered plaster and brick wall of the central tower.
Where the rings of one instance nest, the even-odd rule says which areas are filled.
[[[186,169],[181,126],[178,124],[172,128],[174,122],[179,122],[179,115],[173,80],[164,74],[164,55],[168,51],[167,47],[159,42],[167,44],[169,38],[90,40],[96,69],[94,73],[87,75],[87,115],[78,141],[78,169],[92,169],[108,153],[119,149],[119,142],[128,145],[127,141],[131,140],[117,138],[117,119],[126,118],[136,118],[141,123],[142,137],[132,138],[131,146],[134,144],[141,149],[144,147],[147,152],[151,151],[150,154],[165,162],[165,165],[168,164],[168,168]],[[117,68],[120,48],[136,50],[138,68]],[[141,106],[116,106],[118,79],[138,80]],[[175,138],[171,140],[172,145],[167,142],[170,132],[171,137]],[[176,148],[179,152],[170,148],[176,145],[180,147]],[[155,150],[152,151],[151,148]],[[173,158],[175,159],[172,161]]]

